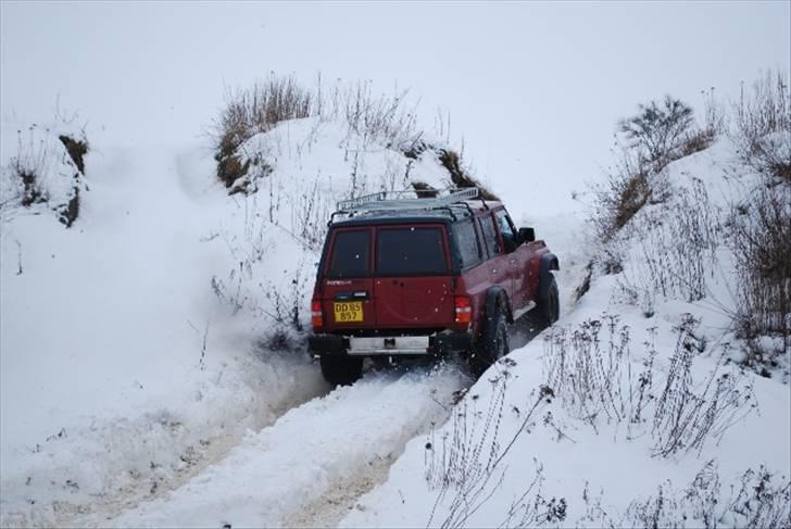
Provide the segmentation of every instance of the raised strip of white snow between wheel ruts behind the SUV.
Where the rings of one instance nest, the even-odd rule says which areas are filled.
[[[381,479],[410,439],[444,420],[450,410],[445,403],[464,383],[452,366],[403,376],[369,374],[248,436],[224,461],[165,497],[101,521],[122,527],[271,527],[300,521],[306,506],[321,505],[331,494],[353,502],[357,490],[363,493]],[[310,521],[324,526],[332,520],[318,508]]]

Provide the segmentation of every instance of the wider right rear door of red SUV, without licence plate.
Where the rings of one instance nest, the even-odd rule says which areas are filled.
[[[374,299],[379,328],[454,322],[450,247],[443,224],[375,228]]]

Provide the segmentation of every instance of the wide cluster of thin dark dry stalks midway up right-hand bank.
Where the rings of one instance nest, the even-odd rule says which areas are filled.
[[[654,455],[700,451],[756,404],[752,386],[740,371],[719,373],[721,360],[702,383],[693,383],[694,356],[706,347],[694,333],[696,325],[688,315],[675,329],[676,348],[664,381],[653,369],[657,353],[651,342],[645,344],[641,370],[633,369],[629,329],[619,326],[617,316],[587,320],[570,333],[553,329],[544,342],[548,383],[564,407],[597,432],[602,421],[626,423],[631,438],[651,418]]]

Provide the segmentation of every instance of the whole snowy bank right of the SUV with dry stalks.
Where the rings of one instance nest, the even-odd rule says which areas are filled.
[[[742,176],[737,186],[733,175]],[[711,213],[703,230],[756,180],[726,140],[662,177],[676,198],[644,209],[620,234],[623,272],[595,274],[572,312],[489,369],[451,420],[407,444],[387,482],[362,496],[342,527],[791,522],[788,380],[731,363],[744,344],[729,330],[739,280],[729,251],[718,239],[692,249],[703,270],[694,302],[686,300],[689,281],[652,294],[657,270],[646,264],[658,254],[673,266],[675,215],[690,206],[678,202],[681,188],[707,191],[692,204]],[[700,413],[673,407],[685,394],[705,403]],[[662,405],[691,418],[689,437],[664,455],[673,430]]]

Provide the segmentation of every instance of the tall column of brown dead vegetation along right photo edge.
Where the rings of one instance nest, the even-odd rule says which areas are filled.
[[[741,280],[737,333],[745,364],[768,376],[791,350],[791,90],[787,75],[767,72],[733,108],[731,140],[759,184],[731,204],[728,243]],[[773,347],[777,339],[782,347]],[[786,366],[788,369],[788,366]]]

